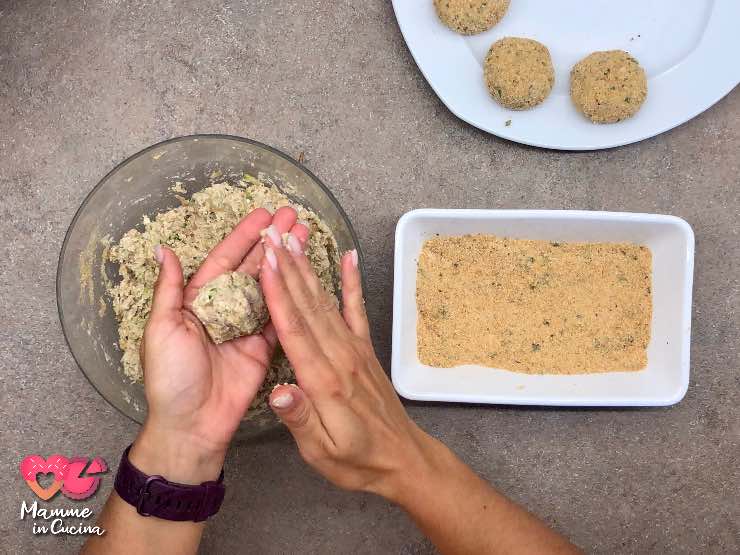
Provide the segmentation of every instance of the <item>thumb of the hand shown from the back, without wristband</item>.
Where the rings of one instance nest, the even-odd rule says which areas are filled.
[[[288,427],[309,462],[323,446],[333,443],[311,399],[295,385],[279,385],[270,394],[270,407]]]

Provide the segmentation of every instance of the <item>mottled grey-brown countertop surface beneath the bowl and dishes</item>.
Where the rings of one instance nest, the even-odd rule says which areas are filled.
[[[691,385],[677,406],[557,410],[408,404],[476,471],[587,551],[740,550],[740,91],[640,144],[592,153],[508,143],[450,114],[383,0],[0,1],[2,551],[34,537],[28,454],[99,455],[137,426],[77,369],[57,318],[64,232],[116,163],[196,132],[297,156],[334,191],[368,259],[368,307],[390,358],[393,230],[417,207],[675,214],[697,239]],[[285,433],[235,446],[203,551],[430,553],[398,509],[328,485]],[[96,510],[112,486],[103,480]]]

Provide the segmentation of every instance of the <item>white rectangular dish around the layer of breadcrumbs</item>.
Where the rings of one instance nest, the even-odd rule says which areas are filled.
[[[518,239],[631,242],[653,254],[648,365],[640,372],[529,375],[483,366],[433,368],[416,352],[416,264],[435,233]],[[396,391],[407,399],[507,405],[662,406],[689,385],[694,234],[674,216],[566,210],[412,210],[396,226],[393,355]],[[471,330],[470,333],[475,333]]]

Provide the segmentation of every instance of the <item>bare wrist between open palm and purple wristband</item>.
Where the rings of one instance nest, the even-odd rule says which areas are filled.
[[[192,485],[218,479],[225,458],[225,448],[205,444],[187,434],[161,430],[149,422],[129,452],[129,460],[141,472]]]

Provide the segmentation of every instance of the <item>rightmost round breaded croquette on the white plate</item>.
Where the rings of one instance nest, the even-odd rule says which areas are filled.
[[[640,109],[647,98],[647,78],[624,50],[594,52],[570,72],[570,96],[594,123],[616,123]]]

